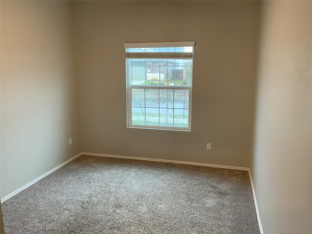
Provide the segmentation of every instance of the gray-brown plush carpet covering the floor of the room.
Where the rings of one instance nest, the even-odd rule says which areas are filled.
[[[247,171],[79,156],[2,203],[6,234],[259,234]]]

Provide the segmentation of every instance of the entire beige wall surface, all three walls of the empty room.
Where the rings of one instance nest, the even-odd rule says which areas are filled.
[[[1,1],[1,197],[80,152],[250,166],[264,233],[311,233],[312,2],[260,4]],[[188,40],[192,132],[127,129],[123,43]]]

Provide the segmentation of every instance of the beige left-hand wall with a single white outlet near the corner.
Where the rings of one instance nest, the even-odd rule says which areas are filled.
[[[81,152],[71,12],[1,1],[2,198]]]

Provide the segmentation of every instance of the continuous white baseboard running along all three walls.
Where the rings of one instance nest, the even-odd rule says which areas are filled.
[[[254,195],[254,206],[255,206],[255,210],[256,210],[256,215],[257,215],[258,225],[259,225],[259,229],[260,229],[260,234],[264,234],[263,233],[263,229],[262,229],[262,225],[261,225],[261,220],[260,220],[257,200],[256,200],[255,193],[254,193],[254,184],[253,184],[252,175],[250,173],[249,168],[246,168],[246,167],[231,167],[231,166],[223,166],[223,165],[215,165],[215,164],[206,164],[206,163],[197,163],[197,162],[185,162],[185,161],[176,161],[176,160],[167,160],[167,159],[155,159],[155,158],[147,158],[147,157],[131,157],[131,156],[105,155],[105,154],[93,154],[93,153],[80,153],[80,154],[70,158],[66,162],[63,162],[62,164],[60,164],[56,168],[50,170],[49,172],[43,174],[42,176],[39,176],[37,179],[31,181],[30,183],[28,183],[25,186],[21,187],[20,189],[18,189],[17,191],[13,192],[12,194],[3,197],[3,199],[1,200],[1,203],[4,202],[5,200],[9,199],[10,197],[12,197],[14,195],[17,195],[18,193],[20,193],[24,189],[28,188],[29,186],[31,186],[32,184],[36,183],[40,179],[44,178],[45,176],[48,176],[52,172],[58,170],[62,166],[66,165],[67,163],[69,163],[70,161],[74,160],[75,158],[77,158],[78,156],[81,156],[81,155],[101,156],[101,157],[116,157],[116,158],[145,160],[145,161],[155,161],[155,162],[169,162],[169,163],[188,164],[188,165],[195,165],[195,166],[217,167],[217,168],[225,168],[225,169],[234,169],[234,170],[248,171],[250,182],[251,182],[251,186],[252,186],[252,190],[253,190],[253,195]]]

